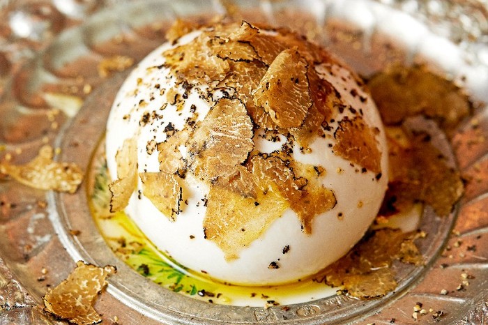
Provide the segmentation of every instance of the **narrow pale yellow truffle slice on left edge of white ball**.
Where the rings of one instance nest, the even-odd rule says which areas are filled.
[[[110,212],[122,211],[137,186],[137,141],[135,137],[125,139],[122,148],[115,155],[116,179],[109,184]]]

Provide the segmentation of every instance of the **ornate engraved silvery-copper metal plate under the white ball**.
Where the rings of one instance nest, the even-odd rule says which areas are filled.
[[[57,159],[86,170],[128,73],[101,77],[100,62],[114,55],[137,62],[164,42],[164,30],[176,17],[208,18],[225,10],[237,17],[234,4],[247,20],[298,29],[342,54],[363,75],[392,62],[436,66],[438,59],[443,64],[436,68],[463,79],[445,57],[425,59],[420,40],[395,43],[395,35],[385,36],[390,20],[414,20],[459,50],[468,67],[476,67],[468,76],[478,80],[473,99],[488,100],[488,6],[481,1],[113,2],[0,1],[0,159],[26,162],[49,143],[61,149]],[[52,93],[62,96],[54,100]],[[43,312],[42,297],[79,259],[117,266],[95,305],[104,324],[487,324],[487,137],[488,108],[480,105],[450,139],[465,195],[448,218],[426,209],[420,225],[427,232],[420,247],[425,267],[400,268],[395,292],[365,301],[331,296],[255,308],[176,294],[112,253],[89,212],[88,179],[75,195],[0,179],[0,324],[64,324]],[[417,320],[416,303],[427,310]]]

